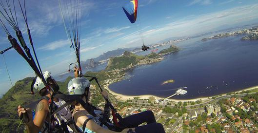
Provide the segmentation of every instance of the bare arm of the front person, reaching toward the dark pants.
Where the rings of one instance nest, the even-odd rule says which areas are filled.
[[[76,112],[74,114],[74,118],[75,118],[75,122],[76,125],[78,127],[82,126],[84,121],[88,119],[87,116],[85,116],[85,114],[81,113],[81,112]],[[95,132],[95,133],[118,133],[118,132],[114,132],[108,129],[104,129],[102,127],[100,127],[95,121],[93,120],[89,120],[86,124],[86,128]],[[127,133],[129,129],[125,129],[123,130],[121,133]]]

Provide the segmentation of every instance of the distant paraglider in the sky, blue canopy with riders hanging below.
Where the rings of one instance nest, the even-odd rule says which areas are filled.
[[[123,6],[123,11],[126,14],[127,18],[131,21],[131,23],[135,23],[136,22],[136,19],[137,19],[137,9],[138,9],[138,0],[131,0],[130,2],[126,3]],[[141,34],[141,29],[140,29],[139,32],[140,32],[140,37],[141,37],[141,40],[142,40],[142,43],[143,43],[141,49],[143,51],[149,50],[150,48],[148,46],[144,45],[144,40],[143,40],[143,37],[142,37],[142,34]]]

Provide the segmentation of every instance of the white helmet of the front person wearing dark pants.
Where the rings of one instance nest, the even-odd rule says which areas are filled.
[[[89,89],[90,81],[85,77],[75,77],[68,83],[69,95],[83,95],[86,89]]]

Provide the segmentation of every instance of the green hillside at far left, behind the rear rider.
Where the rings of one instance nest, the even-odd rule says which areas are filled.
[[[23,131],[23,125],[18,129],[20,119],[17,114],[17,106],[28,105],[40,98],[39,94],[31,95],[30,93],[32,80],[33,77],[27,77],[17,81],[14,87],[0,99],[1,133],[20,133]]]

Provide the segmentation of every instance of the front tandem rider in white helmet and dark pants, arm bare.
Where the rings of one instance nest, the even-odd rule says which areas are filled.
[[[68,93],[69,95],[79,95],[83,101],[89,102],[90,99],[90,82],[84,77],[76,77],[70,80],[68,83]],[[103,91],[101,93],[104,97],[108,97],[108,94]],[[83,133],[117,133],[115,131],[108,130],[106,126],[99,126],[101,123],[99,117],[102,118],[102,111],[95,110],[97,117],[89,114],[82,105],[75,101],[73,112],[73,120],[79,129]],[[147,125],[139,126],[140,124],[146,122]],[[165,133],[163,126],[156,122],[154,114],[152,111],[145,111],[139,114],[133,114],[131,116],[123,118],[119,121],[124,129],[121,133]],[[138,127],[139,126],[139,127]],[[132,129],[128,129],[132,128]]]

